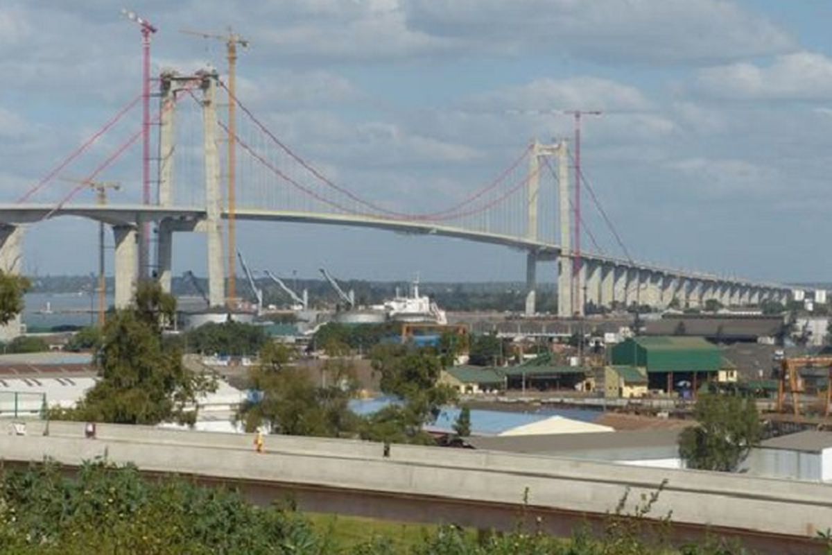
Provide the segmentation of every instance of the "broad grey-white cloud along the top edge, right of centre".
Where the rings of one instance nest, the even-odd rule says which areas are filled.
[[[788,52],[795,43],[765,17],[723,0],[409,0],[409,22],[480,48],[600,62],[701,62]]]

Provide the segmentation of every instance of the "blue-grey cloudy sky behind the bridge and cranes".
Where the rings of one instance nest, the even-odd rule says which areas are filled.
[[[222,44],[180,29],[231,25],[250,39],[240,54],[241,100],[334,181],[384,206],[442,210],[496,176],[532,137],[571,133],[567,116],[544,112],[602,110],[585,122],[584,167],[635,258],[760,280],[826,280],[832,270],[830,2],[147,0],[131,7],[160,28],[155,72],[206,63],[225,72]],[[140,36],[120,10],[106,0],[2,2],[7,201],[139,92]],[[131,111],[61,175],[87,176],[136,130],[139,116]],[[199,131],[186,131],[186,121],[183,153]],[[113,201],[138,198],[140,167],[136,145],[99,176],[121,181]],[[182,176],[188,167],[179,166]],[[56,201],[73,186],[53,181],[32,200]],[[599,246],[621,255],[586,206]],[[435,237],[251,223],[241,223],[239,235],[251,265],[286,275],[312,276],[324,264],[354,278],[419,272],[423,280],[516,280],[525,269],[512,250]],[[95,241],[92,222],[44,222],[27,233],[25,265],[39,274],[87,273]],[[204,237],[177,235],[175,249],[177,273],[205,274]],[[552,275],[553,267],[541,271]]]

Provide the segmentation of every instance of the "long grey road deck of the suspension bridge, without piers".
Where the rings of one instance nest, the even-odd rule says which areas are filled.
[[[431,221],[404,221],[379,218],[375,216],[323,214],[299,211],[274,211],[250,208],[238,208],[235,211],[235,215],[237,220],[349,225],[352,227],[369,227],[379,230],[389,230],[409,235],[438,235],[443,237],[454,237],[457,239],[472,240],[490,245],[508,246],[527,252],[532,251],[537,253],[538,260],[555,260],[561,253],[560,245],[543,240],[530,240],[521,236],[501,235],[487,231],[466,230],[451,225],[438,225]],[[201,208],[187,206],[148,206],[140,204],[114,204],[107,206],[71,204],[61,206],[60,208],[51,204],[0,204],[0,222],[9,225],[30,224],[42,221],[45,218],[54,218],[57,216],[79,216],[95,221],[103,221],[109,225],[135,225],[137,221],[159,221],[166,218],[196,224],[197,221],[206,217],[206,211]],[[222,217],[227,217],[227,212],[224,211]],[[642,264],[631,260],[617,259],[614,257],[586,252],[582,254],[582,259],[609,263],[638,270],[649,270],[671,276],[677,275],[690,279],[705,281],[730,281],[735,285],[773,287],[777,289],[782,288],[782,286],[776,284],[741,280],[736,278],[726,279],[713,274],[663,268],[661,266]]]

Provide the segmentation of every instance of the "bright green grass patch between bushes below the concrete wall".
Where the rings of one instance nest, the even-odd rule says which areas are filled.
[[[305,513],[318,533],[329,536],[340,548],[349,549],[371,538],[388,538],[397,551],[406,552],[421,543],[434,524],[397,523],[375,518],[349,517],[330,513]]]

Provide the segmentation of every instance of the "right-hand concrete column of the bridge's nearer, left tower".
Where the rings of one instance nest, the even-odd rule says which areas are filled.
[[[225,259],[222,248],[222,195],[220,194],[220,156],[216,145],[216,73],[202,81],[202,122],[206,177],[206,235],[208,242],[208,301],[210,306],[225,305]]]

